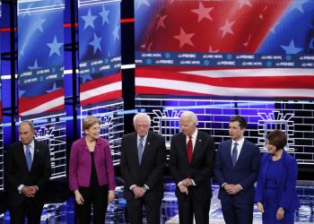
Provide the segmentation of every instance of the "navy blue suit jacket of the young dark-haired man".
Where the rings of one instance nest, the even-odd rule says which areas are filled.
[[[235,195],[227,194],[221,187],[218,198],[228,200],[231,196],[238,202],[254,202],[254,183],[257,181],[258,168],[260,164],[260,151],[252,142],[244,140],[240,155],[235,167],[232,166],[231,160],[232,140],[221,142],[218,146],[215,159],[214,175],[218,185],[240,184],[243,190]]]

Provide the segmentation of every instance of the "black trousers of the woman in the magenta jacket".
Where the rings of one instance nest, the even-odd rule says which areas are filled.
[[[103,224],[106,220],[108,207],[108,185],[79,187],[79,192],[83,196],[83,205],[75,203],[78,220],[80,224],[91,223],[91,213],[93,213],[93,223]]]

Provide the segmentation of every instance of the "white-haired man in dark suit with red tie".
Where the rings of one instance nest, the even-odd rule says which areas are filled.
[[[208,224],[214,175],[214,138],[198,131],[197,116],[191,111],[179,119],[181,133],[171,138],[170,174],[177,187],[179,223]]]

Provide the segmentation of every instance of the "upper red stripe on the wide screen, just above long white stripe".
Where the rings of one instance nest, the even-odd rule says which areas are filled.
[[[136,69],[136,78],[155,78],[233,88],[314,89],[314,75],[211,78],[196,74]]]

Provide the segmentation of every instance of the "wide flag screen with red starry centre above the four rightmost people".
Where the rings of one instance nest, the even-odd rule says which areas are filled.
[[[313,98],[313,12],[311,0],[135,0],[135,91]]]

